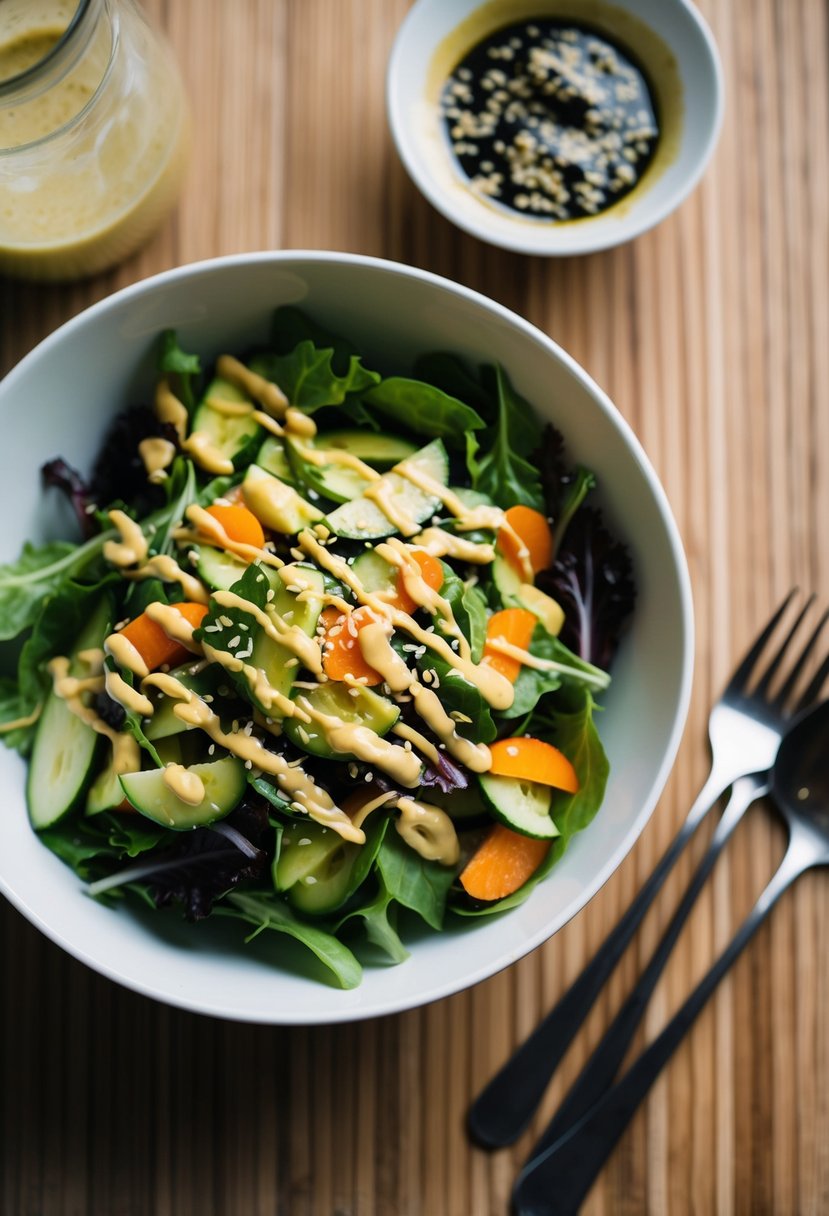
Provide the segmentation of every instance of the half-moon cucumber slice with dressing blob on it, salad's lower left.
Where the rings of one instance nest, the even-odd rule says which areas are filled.
[[[177,798],[164,781],[163,769],[124,773],[122,789],[131,805],[154,823],[186,832],[222,820],[242,800],[247,789],[247,769],[237,756],[225,756],[209,764],[191,765],[204,786],[204,798],[196,806]]]

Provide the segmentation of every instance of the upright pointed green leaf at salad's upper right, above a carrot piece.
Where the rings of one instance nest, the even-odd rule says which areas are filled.
[[[502,367],[494,367],[498,417],[483,439],[484,455],[474,463],[473,489],[489,494],[500,507],[524,503],[545,511],[535,465],[528,460],[541,437],[532,409],[513,389]]]

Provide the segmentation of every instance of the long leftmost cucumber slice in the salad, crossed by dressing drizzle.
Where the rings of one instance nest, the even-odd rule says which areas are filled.
[[[86,674],[78,654],[101,647],[112,624],[112,603],[105,596],[91,610],[69,653],[71,676]],[[49,693],[34,737],[26,784],[29,818],[36,831],[57,823],[80,801],[95,771],[100,737],[72,713],[62,697]]]

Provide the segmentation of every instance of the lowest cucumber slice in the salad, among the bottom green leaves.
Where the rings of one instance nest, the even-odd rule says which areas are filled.
[[[349,895],[360,850],[361,845],[343,840],[312,820],[287,823],[273,866],[273,885],[277,891],[287,891],[288,901],[301,912],[333,912]]]

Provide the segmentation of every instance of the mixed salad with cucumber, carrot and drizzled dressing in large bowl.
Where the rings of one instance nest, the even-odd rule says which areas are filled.
[[[293,308],[276,311],[267,347],[241,364],[278,387],[294,422],[315,426],[292,430],[280,411],[269,426],[253,382],[220,375],[221,360],[204,375],[168,332],[158,370],[186,423],[156,396],[115,420],[89,478],[60,458],[44,466],[81,539],[27,544],[0,567],[0,637],[19,642],[17,672],[0,682],[0,727],[29,759],[33,827],[90,895],[193,922],[233,918],[249,936],[277,930],[328,981],[353,987],[359,957],[406,957],[406,918],[439,930],[520,902],[598,811],[608,765],[594,715],[635,602],[631,564],[591,503],[593,475],[571,466],[501,367],[436,353],[384,376]],[[209,437],[222,472],[204,467],[194,434]],[[153,444],[167,456],[148,477]],[[333,451],[350,456],[327,461]],[[450,510],[457,502],[468,516]],[[518,507],[546,529],[543,565],[529,572],[528,551],[517,559],[497,525]],[[229,510],[256,517],[260,535],[233,541]],[[401,535],[401,518],[416,528]],[[131,562],[124,520],[143,544]],[[408,593],[427,584],[427,602]],[[397,609],[383,618],[404,671],[396,691],[370,665],[366,675],[356,626],[376,621],[371,597]],[[181,609],[192,636],[156,662],[147,621],[169,604],[197,606]],[[512,635],[494,634],[494,621],[507,619],[530,621],[529,634],[500,649]],[[143,669],[109,644],[118,634]],[[494,708],[456,654],[500,671],[512,703]],[[416,711],[424,688],[451,716],[449,745]],[[253,759],[236,747],[242,736]],[[570,789],[541,771],[511,776],[521,753],[536,764],[538,744],[545,764],[556,753],[575,775]],[[487,749],[506,769],[464,762]],[[404,751],[417,773],[405,787]],[[322,812],[308,814],[289,773]],[[495,828],[519,852],[531,841],[534,861],[518,885],[498,888],[508,894],[483,899],[463,876]],[[457,848],[441,851],[430,833]]]

